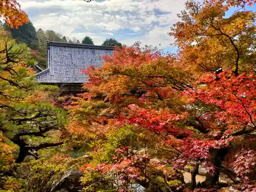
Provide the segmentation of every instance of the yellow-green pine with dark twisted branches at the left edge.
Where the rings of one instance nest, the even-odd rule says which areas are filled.
[[[65,112],[51,103],[57,87],[38,85],[27,68],[32,62],[27,46],[0,40],[0,134],[19,146],[15,161],[21,163],[27,156],[37,159],[41,149],[63,143],[55,136],[66,123]]]

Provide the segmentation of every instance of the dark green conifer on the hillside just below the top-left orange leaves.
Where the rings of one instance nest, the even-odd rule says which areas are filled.
[[[5,23],[4,28],[5,30],[11,32],[13,38],[16,39],[17,42],[24,42],[31,49],[36,49],[37,35],[35,27],[31,21],[29,21],[27,24],[23,24],[18,28],[11,28],[7,25],[7,23]]]

